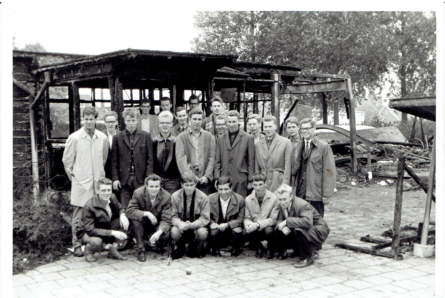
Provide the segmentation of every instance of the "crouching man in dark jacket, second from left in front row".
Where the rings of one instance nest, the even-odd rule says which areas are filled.
[[[138,261],[146,260],[144,235],[150,235],[150,243],[156,243],[158,254],[163,254],[170,235],[171,201],[170,194],[161,188],[161,177],[150,174],[145,178],[144,186],[134,191],[127,215],[136,234]]]

